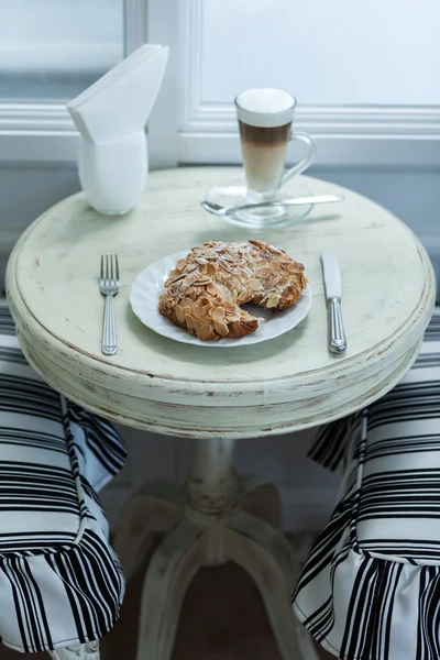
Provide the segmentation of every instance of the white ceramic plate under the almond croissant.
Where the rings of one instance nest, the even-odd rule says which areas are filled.
[[[298,302],[283,311],[273,311],[253,305],[244,307],[258,319],[258,329],[251,334],[239,339],[219,339],[218,341],[201,341],[197,337],[189,334],[183,328],[175,326],[169,319],[164,317],[157,308],[158,296],[161,295],[164,283],[168,278],[168,273],[174,268],[176,262],[186,256],[188,251],[178,252],[164,256],[151,264],[145,271],[142,271],[133,282],[130,292],[130,304],[136,317],[151,330],[168,337],[175,341],[197,344],[200,346],[231,349],[233,346],[243,346],[246,344],[267,341],[288,332],[306,318],[311,305],[310,287],[304,290]]]

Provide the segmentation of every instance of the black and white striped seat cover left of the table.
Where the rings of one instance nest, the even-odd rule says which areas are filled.
[[[25,362],[0,305],[0,641],[22,652],[101,638],[123,597],[96,490],[123,465],[112,426]]]

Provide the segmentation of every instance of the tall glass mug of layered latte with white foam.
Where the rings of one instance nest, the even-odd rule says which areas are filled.
[[[295,106],[295,97],[282,89],[248,89],[235,98],[248,184],[245,202],[282,199],[282,186],[304,172],[312,162],[316,146],[310,135],[292,131]],[[285,169],[287,146],[292,140],[305,142],[308,152],[300,163]],[[242,220],[253,223],[264,221],[264,224],[271,221],[278,222],[284,215],[286,209],[283,207],[240,212]]]

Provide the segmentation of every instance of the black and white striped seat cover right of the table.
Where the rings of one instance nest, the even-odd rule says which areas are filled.
[[[337,507],[293,606],[345,660],[440,658],[440,309],[413,369],[312,449],[343,468]]]

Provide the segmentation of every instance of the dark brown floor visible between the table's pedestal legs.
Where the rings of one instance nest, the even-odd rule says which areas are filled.
[[[260,488],[245,508],[277,525],[279,503],[275,492],[267,488]],[[142,575],[147,563],[148,558],[128,584],[121,619],[102,640],[101,660],[135,660]],[[322,660],[333,658],[322,649],[320,653]],[[20,657],[0,648],[0,660]],[[47,660],[44,653],[33,658]],[[282,660],[260,593],[239,566],[228,563],[198,573],[185,598],[173,660]]]

